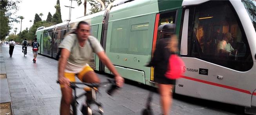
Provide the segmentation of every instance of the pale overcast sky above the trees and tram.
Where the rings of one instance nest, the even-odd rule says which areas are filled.
[[[30,27],[34,23],[34,15],[37,13],[43,13],[42,20],[47,19],[47,15],[50,12],[53,15],[56,12],[54,5],[56,5],[57,0],[21,0],[22,2],[18,4],[19,10],[15,13],[16,16],[23,16],[22,20],[22,31],[26,29],[26,27]],[[60,11],[62,15],[62,21],[69,19],[69,7],[65,7],[64,5],[70,6],[71,1],[69,0],[60,0]],[[75,7],[71,10],[71,20],[84,16],[84,5],[81,4],[78,6],[76,1],[72,2],[72,7]],[[91,7],[87,4],[87,13],[89,13],[89,9]],[[20,21],[20,19],[18,18]],[[32,20],[31,24],[29,20]],[[11,33],[14,33],[13,30],[15,27],[18,28],[18,32],[20,32],[20,23],[12,23]]]

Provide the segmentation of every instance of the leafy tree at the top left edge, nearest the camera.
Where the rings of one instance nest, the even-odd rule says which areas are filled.
[[[4,40],[9,35],[11,22],[18,22],[14,14],[18,10],[20,0],[0,0],[0,40]]]

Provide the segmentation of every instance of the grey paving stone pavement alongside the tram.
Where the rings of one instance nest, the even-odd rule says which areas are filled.
[[[8,81],[7,85],[2,84],[1,80],[1,90],[2,87],[9,87],[9,93],[6,94],[11,97],[14,115],[59,115],[61,91],[56,83],[58,61],[39,55],[36,63],[33,63],[31,47],[28,47],[27,55],[24,57],[21,46],[16,45],[12,58],[9,58],[8,46],[3,45],[1,49],[0,54],[4,58]],[[106,81],[108,78],[107,75],[97,75],[101,81]],[[103,103],[104,115],[141,115],[149,90],[131,83],[124,84],[122,90],[114,93],[113,97],[105,93],[107,87],[100,88],[101,94],[97,98]],[[78,90],[78,93],[82,93],[82,90]],[[4,97],[1,96],[2,98]],[[159,99],[159,94],[153,92],[151,105],[154,115],[161,113]],[[78,102],[84,102],[84,98],[79,99]],[[173,100],[170,113],[172,115],[235,115],[177,99]]]

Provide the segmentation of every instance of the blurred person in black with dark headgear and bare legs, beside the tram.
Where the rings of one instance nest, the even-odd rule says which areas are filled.
[[[154,82],[158,83],[158,90],[161,97],[163,115],[169,115],[172,103],[172,89],[176,84],[175,79],[165,77],[169,57],[178,51],[178,40],[174,35],[175,25],[166,23],[158,27],[159,39],[156,41],[156,49],[149,65],[154,66]]]

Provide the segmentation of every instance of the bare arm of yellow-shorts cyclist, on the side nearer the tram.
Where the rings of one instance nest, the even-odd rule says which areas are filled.
[[[123,86],[123,77],[119,75],[114,65],[111,63],[107,55],[104,51],[98,52],[97,55],[99,56],[100,60],[109,68],[109,70],[115,75],[116,84],[120,87]]]

